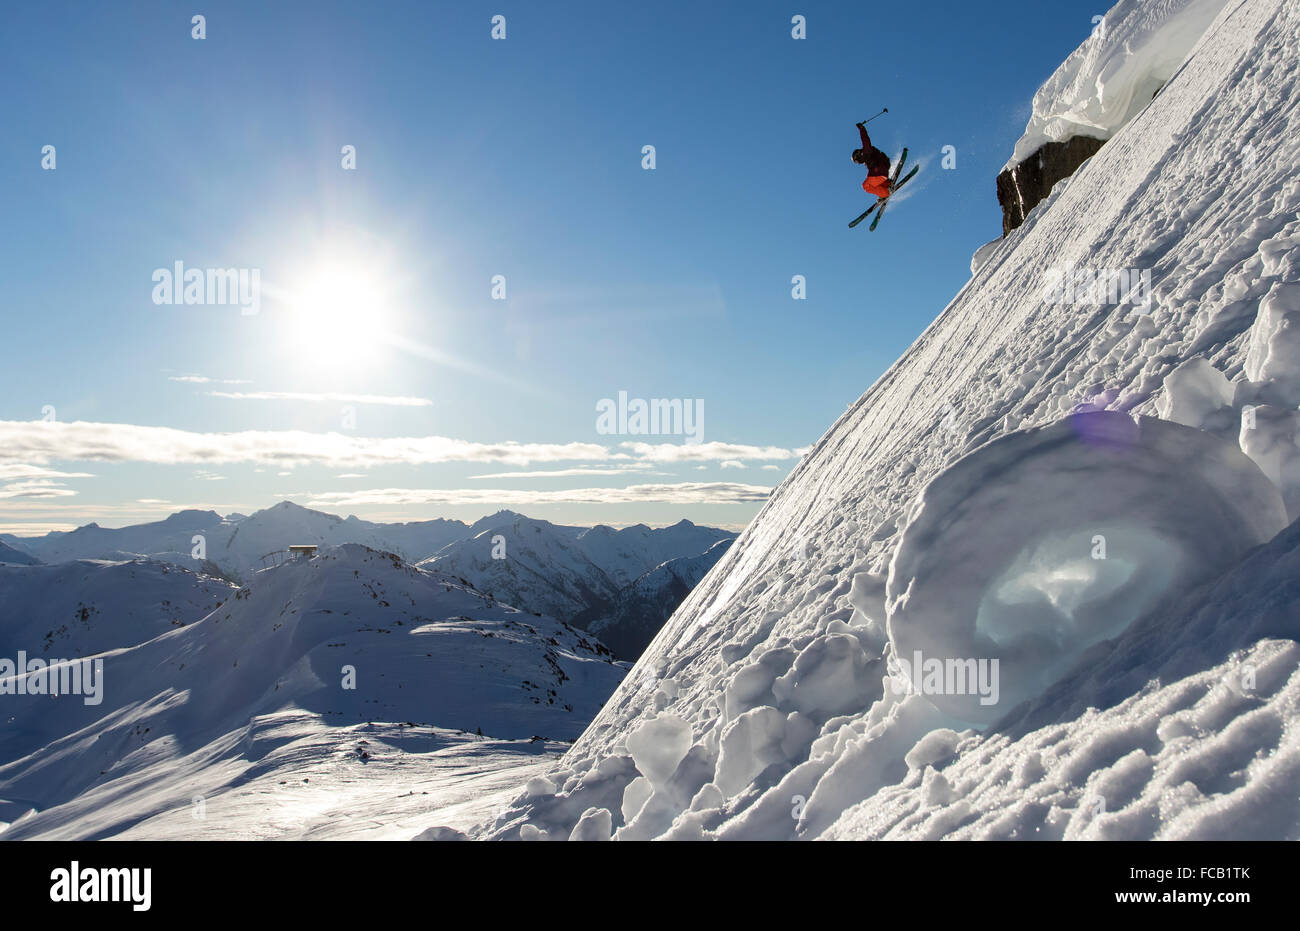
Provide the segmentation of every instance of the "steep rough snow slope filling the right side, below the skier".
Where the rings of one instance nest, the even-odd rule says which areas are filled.
[[[581,819],[582,837],[1300,837],[1294,528],[1242,558],[1295,516],[1278,494],[1300,404],[1300,7],[1234,3],[1202,31],[805,456],[555,792],[520,796],[484,836],[564,839]],[[1060,290],[1119,269],[1149,299]],[[1075,411],[1145,417],[1126,428],[1128,468],[1067,439]],[[1180,425],[1153,424],[1161,411]],[[1013,449],[1040,472],[1023,498],[1032,476],[998,473]],[[970,514],[991,525],[946,523]],[[962,533],[1000,541],[996,558]],[[961,555],[979,579],[952,576],[962,598],[944,605]],[[1128,603],[1148,612],[1093,610]],[[1001,719],[971,727],[968,703],[893,685],[910,658],[890,636],[933,624],[983,625],[1018,648],[1008,659],[1045,650],[1056,681],[1009,670]]]

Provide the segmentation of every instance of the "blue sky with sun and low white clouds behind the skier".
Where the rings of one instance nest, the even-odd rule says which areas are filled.
[[[1105,7],[916,10],[8,7],[0,531],[282,498],[742,525],[966,282]],[[881,107],[922,170],[849,230]],[[177,261],[256,269],[257,313],[155,303]],[[619,391],[701,399],[702,442],[598,432]]]

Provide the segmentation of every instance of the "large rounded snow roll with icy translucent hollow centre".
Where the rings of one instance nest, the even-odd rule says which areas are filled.
[[[926,488],[889,567],[904,685],[989,724],[1286,525],[1258,467],[1202,430],[1093,411],[994,439]]]

